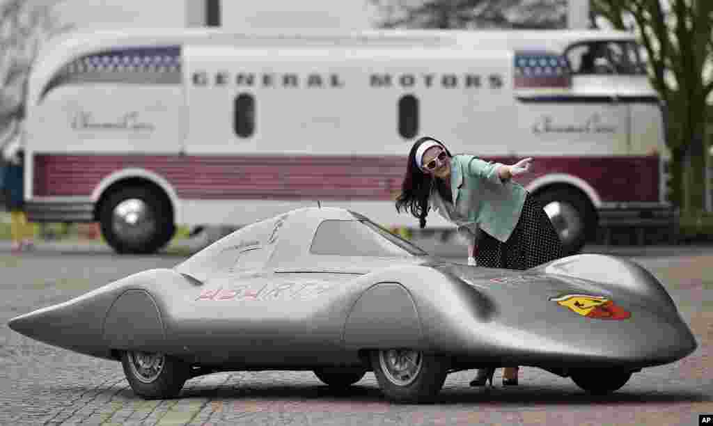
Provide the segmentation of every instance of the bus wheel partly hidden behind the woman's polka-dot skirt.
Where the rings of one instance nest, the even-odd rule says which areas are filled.
[[[548,189],[536,198],[560,236],[564,256],[579,253],[595,224],[589,200],[570,189]]]

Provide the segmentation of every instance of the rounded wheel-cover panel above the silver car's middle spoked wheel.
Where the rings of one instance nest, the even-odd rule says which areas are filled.
[[[414,298],[396,282],[382,282],[361,293],[347,315],[342,339],[350,350],[416,349],[426,344]]]

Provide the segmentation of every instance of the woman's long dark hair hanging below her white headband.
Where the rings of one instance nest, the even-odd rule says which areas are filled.
[[[406,175],[404,182],[401,182],[401,194],[396,197],[396,212],[410,212],[414,217],[419,219],[421,228],[426,227],[426,216],[429,214],[429,193],[431,192],[431,175],[424,173],[416,166],[416,150],[419,149],[422,143],[433,140],[440,144],[443,150],[446,150],[448,157],[453,157],[448,151],[443,142],[436,140],[433,137],[421,137],[414,142],[409,152],[409,161],[406,164]],[[439,188],[440,189],[440,188]],[[450,191],[448,191],[450,193]]]

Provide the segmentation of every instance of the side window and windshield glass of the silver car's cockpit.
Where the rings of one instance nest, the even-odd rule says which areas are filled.
[[[309,252],[332,256],[428,256],[418,246],[369,220],[325,220],[314,233]]]

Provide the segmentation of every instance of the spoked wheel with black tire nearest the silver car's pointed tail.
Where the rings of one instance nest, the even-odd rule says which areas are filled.
[[[133,391],[147,400],[178,396],[190,378],[188,364],[159,353],[124,351],[121,364]]]

